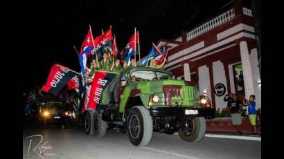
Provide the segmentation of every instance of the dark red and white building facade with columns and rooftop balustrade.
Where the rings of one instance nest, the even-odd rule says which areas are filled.
[[[241,3],[213,17],[175,40],[160,39],[158,48],[169,48],[164,68],[172,78],[196,82],[215,109],[227,107],[224,95],[236,93],[240,100],[256,95],[261,107],[254,19]]]

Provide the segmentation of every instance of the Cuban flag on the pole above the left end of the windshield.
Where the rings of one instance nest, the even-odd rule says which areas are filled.
[[[124,57],[124,59],[127,61],[127,66],[130,65],[130,59],[134,55],[135,45],[136,45],[136,53],[139,52],[139,50],[138,50],[138,48],[139,48],[138,47],[138,45],[139,45],[139,35],[138,34],[139,34],[138,31],[136,31],[136,33],[134,32],[134,34],[128,40],[125,48],[123,48],[123,50],[121,50],[121,57]],[[136,41],[136,44],[134,44],[135,41]]]

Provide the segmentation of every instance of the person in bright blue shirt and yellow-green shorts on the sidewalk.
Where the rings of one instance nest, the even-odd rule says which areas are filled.
[[[256,102],[254,102],[254,100],[256,100],[256,96],[250,95],[249,100],[244,99],[242,104],[244,106],[248,106],[249,109],[249,121],[251,122],[251,126],[254,128],[254,132],[251,133],[251,135],[258,136],[258,131],[256,129]]]

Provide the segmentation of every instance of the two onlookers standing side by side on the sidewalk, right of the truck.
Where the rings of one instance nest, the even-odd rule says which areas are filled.
[[[236,127],[236,131],[239,135],[242,135],[242,106],[248,106],[248,115],[251,126],[253,127],[253,133],[251,135],[258,136],[256,127],[256,96],[250,95],[249,100],[238,100],[236,94],[230,93],[224,97],[224,101],[227,102],[227,108],[230,110],[232,124]]]

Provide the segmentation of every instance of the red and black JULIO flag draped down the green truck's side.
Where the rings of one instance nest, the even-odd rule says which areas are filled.
[[[112,82],[112,79],[116,77],[116,73],[109,73],[105,71],[96,71],[89,90],[89,99],[87,99],[86,109],[94,109],[100,103],[100,98],[103,95],[103,90]]]

